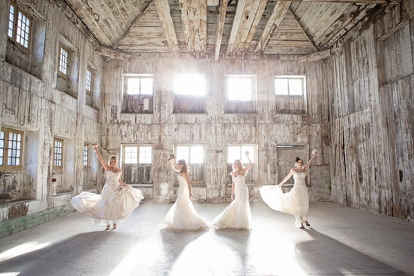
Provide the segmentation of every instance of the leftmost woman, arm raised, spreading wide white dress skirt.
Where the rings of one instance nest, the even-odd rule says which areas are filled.
[[[92,145],[97,152],[98,159],[106,170],[106,182],[101,195],[82,192],[70,201],[79,212],[92,217],[96,223],[106,222],[106,229],[110,229],[112,221],[113,229],[117,228],[117,221],[127,217],[132,210],[139,206],[139,201],[144,199],[141,190],[132,188],[121,181],[122,170],[117,168],[117,157],[110,157],[107,165],[97,149],[97,144]]]

